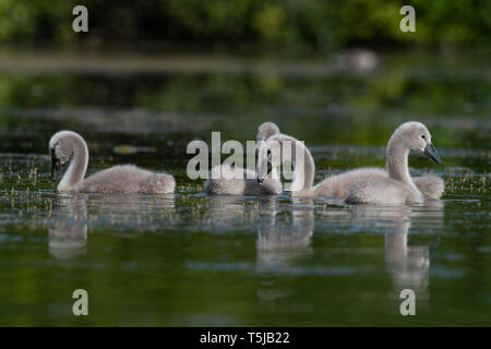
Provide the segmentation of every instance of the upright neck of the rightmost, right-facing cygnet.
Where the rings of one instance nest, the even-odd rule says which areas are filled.
[[[388,141],[386,154],[388,177],[418,190],[409,174],[408,156],[409,149],[393,136]]]

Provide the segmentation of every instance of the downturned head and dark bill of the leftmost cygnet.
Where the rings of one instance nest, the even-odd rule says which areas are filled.
[[[56,182],[61,176],[61,169],[70,163],[74,154],[74,140],[85,142],[82,136],[72,131],[60,131],[49,140],[49,155],[51,156],[51,182]]]

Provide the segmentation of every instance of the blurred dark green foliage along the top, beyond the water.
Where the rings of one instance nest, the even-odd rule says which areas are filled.
[[[84,4],[89,35],[72,31],[72,9]],[[399,9],[414,5],[416,33],[399,31]],[[163,41],[285,51],[359,45],[489,47],[487,0],[0,0],[0,43],[141,45]]]

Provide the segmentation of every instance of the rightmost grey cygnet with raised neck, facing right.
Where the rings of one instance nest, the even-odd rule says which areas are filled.
[[[409,176],[408,156],[410,151],[420,151],[435,163],[440,156],[431,143],[431,134],[420,122],[399,125],[387,144],[388,178],[367,178],[355,183],[346,202],[350,204],[415,204],[423,202],[424,194]],[[427,195],[440,197],[444,190],[443,180],[432,176],[422,178]],[[427,185],[433,183],[433,188]],[[423,190],[424,190],[423,189]]]

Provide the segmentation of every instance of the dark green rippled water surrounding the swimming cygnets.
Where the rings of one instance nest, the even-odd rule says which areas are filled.
[[[491,325],[487,57],[385,55],[368,71],[118,62],[1,69],[0,325]],[[442,201],[207,197],[185,174],[191,140],[255,140],[263,121],[306,141],[316,181],[384,166],[407,120],[426,123],[441,153],[441,166],[418,154],[410,166],[444,178]],[[56,194],[47,143],[62,129],[86,139],[88,173],[166,170],[176,194]],[[86,317],[72,314],[79,288]],[[416,316],[399,313],[407,288]]]

